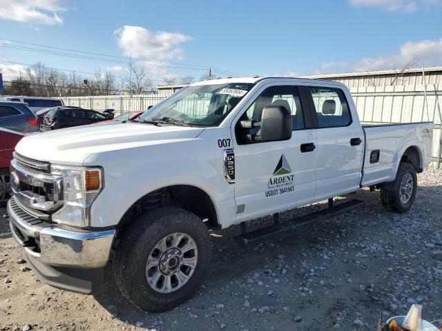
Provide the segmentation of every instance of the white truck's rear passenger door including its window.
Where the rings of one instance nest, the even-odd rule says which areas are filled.
[[[307,87],[318,139],[316,201],[355,192],[361,182],[363,130],[340,88]],[[348,96],[349,97],[349,96]]]

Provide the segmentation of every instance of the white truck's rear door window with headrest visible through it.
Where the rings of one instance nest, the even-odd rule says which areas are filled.
[[[348,126],[352,122],[347,100],[337,88],[309,88],[319,128]]]

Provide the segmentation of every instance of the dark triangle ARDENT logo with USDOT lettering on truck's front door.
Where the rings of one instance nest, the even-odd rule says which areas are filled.
[[[291,173],[289,162],[282,154],[279,159],[278,165],[276,165],[275,171],[267,183],[266,197],[274,197],[278,194],[284,194],[293,192],[295,175]]]

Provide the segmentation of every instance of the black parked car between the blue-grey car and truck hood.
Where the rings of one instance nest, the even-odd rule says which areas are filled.
[[[95,112],[95,110],[61,107],[49,110],[46,113],[40,125],[40,131],[86,126],[86,124],[107,120],[108,117],[100,112]]]

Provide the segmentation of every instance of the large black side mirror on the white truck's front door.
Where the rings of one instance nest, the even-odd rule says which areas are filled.
[[[284,106],[267,106],[262,110],[261,141],[291,138],[291,114]]]

